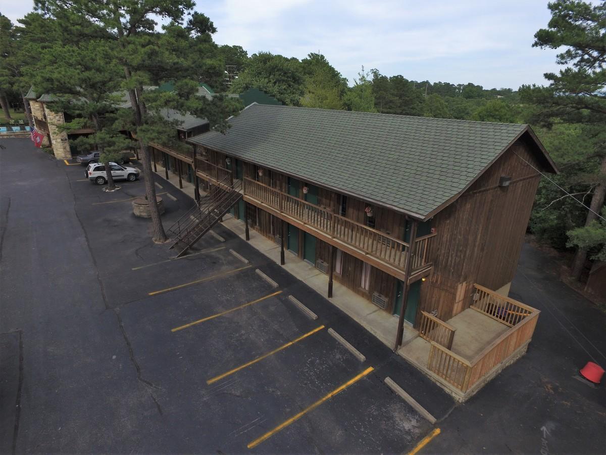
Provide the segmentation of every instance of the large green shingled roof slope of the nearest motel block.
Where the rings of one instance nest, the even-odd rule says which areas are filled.
[[[252,104],[188,141],[426,218],[526,125]]]

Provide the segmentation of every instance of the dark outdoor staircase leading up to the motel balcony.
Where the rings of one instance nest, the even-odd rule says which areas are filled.
[[[175,248],[179,251],[176,257],[185,255],[188,249],[215,226],[241,197],[242,182],[236,180],[231,183],[231,175],[213,186],[210,195],[202,198],[168,229],[168,232],[175,235],[175,243],[170,249]]]

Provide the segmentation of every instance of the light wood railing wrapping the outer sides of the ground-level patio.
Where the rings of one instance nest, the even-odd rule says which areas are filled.
[[[450,349],[431,340],[427,368],[463,393],[516,352],[524,343],[530,341],[540,313],[538,309],[503,297],[483,286],[474,286],[477,291],[481,291],[481,297],[474,302],[474,305],[481,302],[481,307],[472,306],[472,308],[509,326],[510,329],[490,343],[472,360],[463,359]],[[504,305],[504,302],[508,305]],[[505,308],[505,310],[495,308]],[[506,311],[513,315],[508,317]]]

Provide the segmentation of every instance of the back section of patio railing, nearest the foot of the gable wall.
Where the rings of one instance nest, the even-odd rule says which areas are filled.
[[[524,305],[513,298],[504,297],[484,286],[473,285],[476,293],[473,296],[471,308],[487,314],[491,318],[498,320],[510,327],[521,322],[534,310],[531,306]]]

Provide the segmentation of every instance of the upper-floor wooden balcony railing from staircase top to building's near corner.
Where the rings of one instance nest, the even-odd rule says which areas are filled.
[[[304,224],[315,227],[332,238],[344,241],[372,257],[404,269],[408,243],[364,224],[341,217],[258,181],[244,178],[244,195],[267,204]],[[425,235],[415,242],[412,270],[427,266],[429,240]]]

